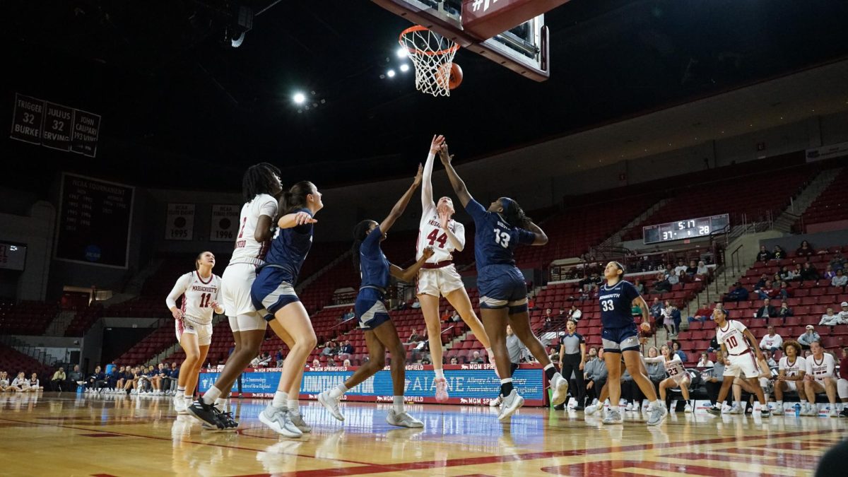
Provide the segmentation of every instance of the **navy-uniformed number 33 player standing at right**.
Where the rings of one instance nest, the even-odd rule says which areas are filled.
[[[611,261],[604,268],[606,283],[598,290],[600,300],[600,322],[603,325],[601,339],[604,344],[604,362],[609,378],[610,401],[615,405],[622,397],[622,356],[624,365],[639,385],[644,396],[650,401],[648,425],[659,425],[667,417],[666,407],[656,398],[654,384],[644,375],[642,356],[639,353],[639,330],[633,321],[631,308],[639,306],[642,310],[642,329],[650,331],[648,304],[639,295],[639,290],[626,280],[622,280],[624,267],[617,261]],[[611,407],[604,418],[604,424],[622,424],[622,412]]]

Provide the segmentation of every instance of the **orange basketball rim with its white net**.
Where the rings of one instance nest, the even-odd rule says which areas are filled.
[[[401,31],[399,43],[416,67],[416,89],[436,97],[450,96],[451,68],[460,46],[421,25]]]

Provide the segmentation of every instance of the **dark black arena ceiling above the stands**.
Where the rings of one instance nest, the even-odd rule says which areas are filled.
[[[271,0],[241,4],[258,13]],[[480,158],[745,92],[848,53],[845,2],[572,0],[546,17],[549,81],[529,81],[460,50],[462,86],[450,98],[431,98],[416,92],[410,74],[380,78],[397,70],[396,38],[408,24],[374,3],[276,3],[232,48],[224,40],[235,5],[3,3],[6,117],[14,93],[103,115],[93,160],[4,141],[20,159],[4,182],[64,169],[153,187],[237,189],[243,167],[262,160],[326,185],[397,177],[423,159],[432,132],[448,135],[461,157]],[[710,110],[788,121],[777,118],[798,115],[794,97],[805,97],[805,105],[845,102],[845,82],[829,77],[829,87],[811,80],[801,86],[812,91],[764,89],[753,99],[737,96],[735,113]],[[318,106],[293,104],[296,91]],[[616,132],[622,158],[692,135],[673,116],[640,127]],[[593,142],[581,147],[563,155],[568,166],[594,160],[587,159]]]

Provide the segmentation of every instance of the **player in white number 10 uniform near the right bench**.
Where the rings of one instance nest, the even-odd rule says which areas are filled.
[[[736,320],[728,320],[728,312],[722,308],[716,308],[712,311],[712,317],[716,322],[716,339],[722,346],[722,354],[728,354],[730,364],[724,368],[724,379],[722,389],[718,391],[718,402],[724,402],[728,396],[730,387],[740,384],[745,390],[751,394],[756,394],[757,400],[760,401],[760,415],[763,418],[769,416],[768,404],[766,397],[762,392],[760,383],[757,378],[760,377],[760,367],[758,361],[764,361],[760,346],[757,345],[756,338],[750,333],[750,330],[744,324]],[[733,376],[734,379],[728,377]],[[739,379],[735,379],[739,378]],[[739,413],[742,403],[737,400],[732,413]],[[713,415],[721,415],[722,408],[713,405],[707,412]]]

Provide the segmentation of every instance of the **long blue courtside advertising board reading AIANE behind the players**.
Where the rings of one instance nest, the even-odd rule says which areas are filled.
[[[353,375],[358,367],[311,368],[304,372],[300,384],[299,399],[316,400],[325,390],[330,390]],[[280,368],[246,369],[242,374],[242,391],[238,396],[274,397],[280,382]],[[219,372],[201,370],[199,391],[205,392],[215,384]],[[444,365],[444,378],[448,380],[450,398],[444,403],[436,401],[436,387],[432,384],[435,373],[432,366],[412,364],[406,366],[406,401],[427,404],[465,404],[488,406],[489,401],[500,393],[500,379],[494,373],[494,364]],[[545,405],[544,370],[538,364],[522,364],[512,375],[512,384],[524,398],[525,406]],[[238,392],[238,382],[232,385],[232,393]],[[349,390],[344,401],[392,402],[392,373],[388,367]]]

